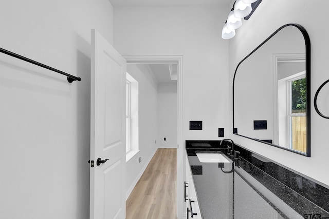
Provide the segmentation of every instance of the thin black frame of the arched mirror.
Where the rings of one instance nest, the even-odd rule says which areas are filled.
[[[298,30],[300,30],[300,32],[303,34],[304,37],[304,41],[305,41],[305,70],[306,70],[306,153],[300,152],[300,151],[295,151],[295,150],[291,150],[288,148],[283,148],[280,147],[278,145],[274,145],[268,142],[263,142],[245,135],[241,135],[241,134],[237,134],[234,133],[234,81],[235,81],[235,75],[236,75],[236,71],[239,68],[240,64],[245,61],[245,59],[247,59],[252,53],[254,53],[255,51],[257,51],[261,46],[263,46],[270,38],[272,38],[275,34],[277,34],[280,30],[282,30],[283,28],[287,27],[287,26],[294,26],[296,27]],[[261,142],[267,145],[271,145],[271,146],[275,146],[277,148],[281,148],[283,150],[287,150],[290,152],[294,152],[303,156],[307,156],[310,157],[310,104],[311,104],[311,97],[310,97],[310,40],[309,40],[309,36],[308,33],[306,32],[305,28],[302,27],[299,24],[286,24],[283,25],[282,27],[280,27],[278,30],[276,30],[274,33],[272,33],[269,37],[267,37],[265,39],[265,41],[263,43],[261,43],[258,47],[256,47],[254,50],[252,50],[252,52],[250,52],[245,58],[242,59],[242,61],[237,64],[235,72],[234,72],[234,76],[233,76],[233,134],[239,135],[239,136],[243,136],[246,138],[249,138],[251,140],[257,141],[257,142]]]

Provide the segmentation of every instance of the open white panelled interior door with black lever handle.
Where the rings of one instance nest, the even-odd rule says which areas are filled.
[[[125,218],[125,74],[125,59],[92,30],[90,219]]]

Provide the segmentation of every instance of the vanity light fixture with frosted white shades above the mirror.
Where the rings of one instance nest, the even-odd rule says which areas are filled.
[[[261,2],[262,0],[236,0],[224,24],[222,38],[230,39],[234,37],[235,29],[242,25],[242,18],[249,19]]]

